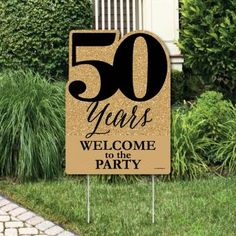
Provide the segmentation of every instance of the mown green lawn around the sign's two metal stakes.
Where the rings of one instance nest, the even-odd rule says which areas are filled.
[[[156,182],[156,223],[151,223],[151,183],[101,184],[91,178],[86,223],[86,181],[15,184],[0,192],[82,235],[236,235],[236,177]]]

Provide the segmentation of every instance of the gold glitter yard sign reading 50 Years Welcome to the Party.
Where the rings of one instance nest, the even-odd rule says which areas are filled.
[[[156,35],[70,32],[66,172],[170,172],[170,61]]]

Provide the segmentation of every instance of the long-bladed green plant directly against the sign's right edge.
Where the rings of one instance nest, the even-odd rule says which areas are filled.
[[[190,111],[177,109],[172,113],[171,130],[171,174],[172,179],[194,179],[207,170],[204,158],[199,154],[204,150],[205,142],[199,127],[202,121],[189,122]]]

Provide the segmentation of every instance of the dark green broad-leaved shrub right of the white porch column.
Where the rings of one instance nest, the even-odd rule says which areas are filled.
[[[236,1],[182,0],[180,47],[185,65],[233,96]]]

